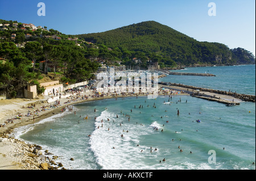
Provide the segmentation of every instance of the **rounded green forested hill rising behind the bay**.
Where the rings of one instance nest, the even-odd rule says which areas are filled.
[[[126,63],[137,54],[142,54],[162,66],[255,64],[255,57],[245,49],[229,49],[220,43],[200,42],[154,21],[77,36],[85,41],[120,49]]]

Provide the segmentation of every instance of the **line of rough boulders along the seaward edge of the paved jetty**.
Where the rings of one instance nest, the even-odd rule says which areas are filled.
[[[243,101],[247,102],[255,102],[255,95],[249,95],[249,94],[238,94],[236,92],[229,92],[229,91],[221,91],[221,90],[214,90],[214,89],[207,89],[202,87],[195,87],[195,86],[188,86],[183,85],[181,83],[171,83],[171,82],[159,82],[160,85],[167,85],[167,86],[177,86],[177,87],[183,87],[185,89],[192,89],[192,90],[200,90],[205,92],[213,92],[216,94],[222,94],[222,95],[230,95],[234,98],[241,99]]]

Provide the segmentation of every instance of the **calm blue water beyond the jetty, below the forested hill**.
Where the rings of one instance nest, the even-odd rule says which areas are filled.
[[[255,65],[212,66],[185,68],[183,70],[174,71],[184,73],[209,73],[216,75],[216,77],[167,75],[167,77],[161,78],[159,81],[255,95]]]

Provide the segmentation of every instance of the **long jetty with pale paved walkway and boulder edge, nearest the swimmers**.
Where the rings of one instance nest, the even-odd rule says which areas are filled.
[[[159,85],[168,89],[180,90],[196,98],[206,99],[224,104],[240,105],[241,101],[255,102],[255,95],[238,94],[221,90],[206,89],[171,82],[159,82]]]

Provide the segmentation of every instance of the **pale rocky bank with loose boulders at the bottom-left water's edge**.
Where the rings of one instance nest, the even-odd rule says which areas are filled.
[[[28,144],[24,141],[10,137],[7,133],[0,133],[0,144],[12,145],[3,157],[13,159],[14,164],[19,165],[22,170],[65,170],[58,157],[42,149],[42,146]]]

